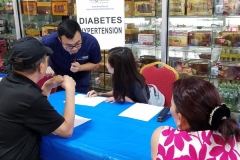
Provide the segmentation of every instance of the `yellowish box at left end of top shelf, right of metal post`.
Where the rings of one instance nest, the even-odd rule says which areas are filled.
[[[185,15],[185,0],[170,0],[170,15]]]

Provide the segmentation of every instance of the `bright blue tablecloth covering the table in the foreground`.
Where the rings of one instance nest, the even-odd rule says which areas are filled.
[[[49,101],[62,114],[65,92],[51,94]],[[172,117],[157,122],[157,115],[145,122],[118,116],[132,103],[102,102],[96,107],[76,105],[76,114],[91,121],[74,129],[71,138],[43,136],[44,160],[150,160],[150,139],[158,126],[175,126]]]

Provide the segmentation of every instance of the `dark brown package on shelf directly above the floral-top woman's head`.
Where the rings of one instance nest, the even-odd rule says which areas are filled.
[[[207,76],[209,74],[209,60],[190,60],[188,67],[192,69],[192,74],[197,76]]]

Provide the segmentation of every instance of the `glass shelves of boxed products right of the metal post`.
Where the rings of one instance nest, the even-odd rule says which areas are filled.
[[[182,77],[198,76],[212,82],[231,111],[239,112],[240,2],[169,3],[168,63]]]

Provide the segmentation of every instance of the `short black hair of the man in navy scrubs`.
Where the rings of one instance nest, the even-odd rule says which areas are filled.
[[[62,36],[66,36],[67,39],[73,39],[76,32],[81,33],[80,25],[77,21],[72,19],[65,19],[58,24],[58,37],[61,39]]]

